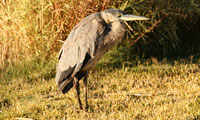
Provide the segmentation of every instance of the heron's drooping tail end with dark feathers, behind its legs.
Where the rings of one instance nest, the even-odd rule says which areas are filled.
[[[66,71],[61,71],[58,68],[56,72],[56,84],[59,91],[65,94],[73,87],[73,77],[68,78]]]

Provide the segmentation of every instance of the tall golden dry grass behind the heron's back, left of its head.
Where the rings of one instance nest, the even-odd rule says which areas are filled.
[[[0,2],[0,69],[8,63],[57,52],[85,16],[110,0],[3,0]]]

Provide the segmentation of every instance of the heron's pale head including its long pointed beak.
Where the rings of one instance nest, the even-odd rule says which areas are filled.
[[[126,14],[124,11],[118,9],[105,10],[102,12],[102,17],[106,23],[119,21],[149,20],[149,18],[143,16]]]

